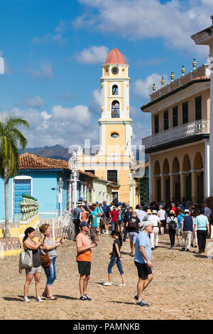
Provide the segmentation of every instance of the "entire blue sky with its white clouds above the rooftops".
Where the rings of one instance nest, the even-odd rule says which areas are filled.
[[[133,143],[151,131],[141,112],[153,82],[207,61],[190,35],[211,26],[212,0],[1,0],[0,105],[28,119],[28,147],[99,142],[101,65],[119,48],[129,63]]]

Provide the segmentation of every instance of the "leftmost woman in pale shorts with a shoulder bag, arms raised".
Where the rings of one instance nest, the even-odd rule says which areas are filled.
[[[45,235],[41,235],[40,242],[36,244],[34,242],[35,237],[35,230],[33,227],[28,227],[25,232],[25,236],[23,237],[23,247],[24,249],[30,249],[33,251],[33,267],[31,269],[25,269],[26,270],[26,282],[23,287],[23,301],[26,303],[30,300],[28,299],[28,289],[31,284],[31,281],[33,280],[33,276],[35,279],[35,292],[36,292],[36,300],[38,302],[43,301],[40,298],[40,274],[41,274],[41,263],[40,263],[40,255],[38,253],[38,248],[41,244],[43,244],[43,241],[45,239]]]

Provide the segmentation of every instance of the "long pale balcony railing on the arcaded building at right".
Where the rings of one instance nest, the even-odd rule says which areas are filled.
[[[210,122],[209,119],[201,119],[180,126],[175,126],[172,129],[165,130],[159,134],[148,136],[142,139],[142,144],[146,149],[151,147],[169,143],[170,141],[177,141],[197,134],[209,134]]]

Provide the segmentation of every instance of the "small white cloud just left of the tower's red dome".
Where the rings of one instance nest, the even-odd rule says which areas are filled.
[[[76,58],[78,63],[96,64],[104,63],[109,53],[107,46],[90,46],[87,49],[77,53]]]

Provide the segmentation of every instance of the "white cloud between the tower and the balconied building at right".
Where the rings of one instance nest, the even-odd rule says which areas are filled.
[[[166,85],[168,82],[168,76],[159,75],[158,73],[152,73],[151,75],[148,75],[145,80],[136,80],[133,82],[133,95],[148,98],[148,95],[152,92],[153,83],[155,83],[157,89],[160,88],[160,80],[162,77],[164,77]]]

